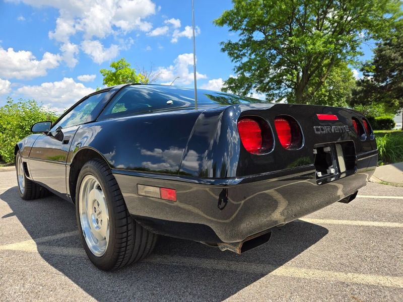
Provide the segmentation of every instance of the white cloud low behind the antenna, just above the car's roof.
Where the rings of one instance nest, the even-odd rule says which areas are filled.
[[[193,83],[193,54],[182,53],[177,56],[173,65],[159,67],[156,72],[159,74],[159,79],[166,82],[163,84],[169,85],[176,77],[179,77],[175,84],[189,85]],[[207,79],[207,75],[197,72],[197,79]]]

